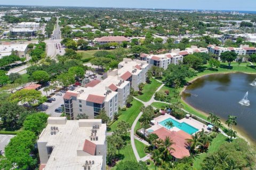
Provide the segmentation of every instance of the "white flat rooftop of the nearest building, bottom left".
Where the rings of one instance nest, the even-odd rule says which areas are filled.
[[[97,129],[98,140],[91,141],[90,136],[93,125],[99,125]],[[55,134],[51,134],[52,128]],[[70,120],[63,117],[49,117],[48,125],[39,136],[38,143],[47,142],[47,147],[53,146],[51,156],[44,170],[61,169],[61,170],[81,170],[86,161],[94,161],[91,169],[101,169],[102,156],[87,154],[78,156],[77,151],[86,149],[85,140],[95,145],[104,145],[106,140],[106,124],[101,124],[101,120]],[[90,150],[90,148],[87,148]]]

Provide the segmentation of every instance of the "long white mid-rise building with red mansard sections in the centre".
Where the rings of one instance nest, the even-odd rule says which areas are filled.
[[[85,87],[67,91],[63,96],[65,113],[69,114],[72,120],[76,119],[78,114],[94,118],[104,109],[107,116],[113,120],[115,113],[118,113],[118,107],[125,107],[130,88],[138,90],[139,84],[146,82],[147,70],[147,62],[124,58],[124,61],[118,64],[118,69],[110,69],[103,76],[104,80],[93,80]]]

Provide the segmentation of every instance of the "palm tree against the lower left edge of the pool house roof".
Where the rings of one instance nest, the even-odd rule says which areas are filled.
[[[158,149],[162,152],[164,160],[168,160],[170,156],[170,150],[175,150],[171,146],[174,144],[169,137],[166,137],[164,140],[161,140],[161,143],[158,145]]]

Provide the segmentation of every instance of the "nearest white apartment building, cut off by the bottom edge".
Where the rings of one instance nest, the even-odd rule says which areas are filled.
[[[47,123],[37,141],[39,169],[106,169],[107,126],[101,120],[49,117]]]

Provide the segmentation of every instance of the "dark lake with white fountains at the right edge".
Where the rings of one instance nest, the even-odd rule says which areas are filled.
[[[205,113],[213,112],[223,120],[237,116],[236,130],[256,142],[256,87],[250,83],[256,74],[212,74],[196,79],[182,94],[191,106]],[[250,106],[238,102],[248,91]]]

